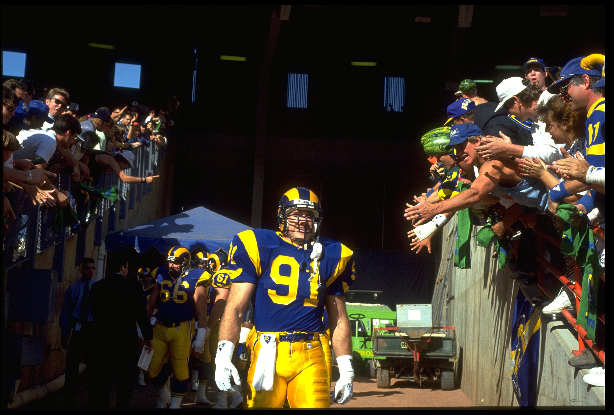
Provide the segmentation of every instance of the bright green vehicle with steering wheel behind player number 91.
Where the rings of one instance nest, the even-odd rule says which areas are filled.
[[[363,299],[364,295],[376,300],[377,294],[381,291],[348,291],[346,299]],[[370,298],[363,301],[370,301]],[[374,301],[375,302],[375,301]],[[368,304],[368,302],[347,302],[349,323],[352,331],[352,357],[354,370],[365,371],[369,377],[376,377],[375,360],[386,359],[386,357],[373,356],[373,333],[374,329],[392,327],[396,323],[397,313],[390,307],[382,304]],[[333,362],[335,362],[333,351]]]

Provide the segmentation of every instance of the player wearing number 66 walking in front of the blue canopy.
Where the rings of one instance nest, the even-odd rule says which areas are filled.
[[[153,271],[159,288],[157,321],[153,326],[153,356],[147,376],[158,389],[157,408],[181,408],[181,400],[188,387],[188,357],[194,332],[193,319],[201,323],[196,341],[204,344],[206,337],[206,303],[195,301],[196,282],[202,269],[184,274],[190,264],[190,251],[185,247],[173,247],[168,252],[168,267]],[[165,387],[168,374],[161,371],[170,360],[173,370],[171,391]]]

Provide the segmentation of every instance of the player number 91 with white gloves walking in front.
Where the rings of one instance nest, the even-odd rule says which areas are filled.
[[[231,363],[242,314],[254,295],[254,331],[247,341],[247,406],[328,408],[330,387],[320,342],[322,313],[328,312],[340,379],[333,401],[352,397],[354,368],[345,291],[354,280],[353,253],[320,238],[322,208],[313,191],[293,188],[278,206],[279,232],[250,229],[230,245],[232,285],[220,324],[216,383],[236,392],[241,382]]]

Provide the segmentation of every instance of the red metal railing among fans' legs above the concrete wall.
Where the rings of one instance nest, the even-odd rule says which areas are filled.
[[[553,266],[551,263],[549,263],[548,261],[546,261],[543,256],[542,256],[542,238],[545,240],[548,240],[549,242],[551,242],[555,247],[561,249],[561,240],[556,239],[554,237],[552,237],[551,235],[546,234],[545,232],[541,231],[540,229],[534,228],[533,229],[535,231],[535,233],[537,234],[537,261],[546,269],[548,269],[548,271],[550,271],[555,277],[557,277],[559,280],[561,280],[562,283],[564,283],[565,286],[567,286],[567,288],[569,288],[573,294],[575,294],[575,298],[576,298],[576,310],[580,309],[580,299],[582,298],[582,287],[580,285],[580,268],[578,267],[578,264],[576,264],[575,259],[573,260],[573,277],[576,281],[576,283],[571,282],[569,279],[567,279],[567,277],[565,277],[565,272],[561,272],[559,269],[557,269],[555,266]],[[602,237],[605,239],[605,233],[602,229],[600,228],[595,228],[593,229],[594,234],[596,234],[599,237]],[[514,251],[517,254],[518,253],[518,241],[515,241],[514,243]],[[516,255],[517,256],[517,255]],[[548,296],[548,298],[550,298],[551,300],[554,299],[553,294],[551,293],[550,290],[548,290],[548,287],[546,287],[546,285],[543,282],[543,269],[541,266],[537,267],[537,277],[538,277],[538,287],[540,290],[540,296],[542,296],[543,294],[546,294],[546,296]],[[599,277],[599,290],[605,290],[605,275],[601,274]],[[604,291],[602,291],[604,292]],[[605,365],[605,352],[604,350],[602,350],[599,346],[597,346],[596,344],[594,344],[594,342],[591,339],[586,338],[586,330],[584,330],[580,324],[577,323],[577,319],[575,317],[573,317],[573,315],[569,312],[569,310],[563,310],[562,314],[564,315],[564,317],[567,319],[567,321],[573,326],[573,328],[575,328],[575,330],[578,332],[578,350],[572,350],[573,354],[578,355],[582,352],[582,350],[585,349],[585,347],[590,347],[593,352],[595,352],[595,354],[597,355],[597,357],[599,358],[599,360]],[[599,310],[599,312],[597,313],[597,318],[599,318],[599,320],[604,323],[605,325],[605,312],[604,310]]]

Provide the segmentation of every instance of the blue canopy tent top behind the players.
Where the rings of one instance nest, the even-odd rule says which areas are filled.
[[[186,210],[125,231],[107,234],[106,250],[121,251],[134,247],[143,253],[151,247],[166,254],[175,245],[192,251],[197,247],[208,252],[223,248],[228,251],[233,236],[252,229],[204,207]]]

